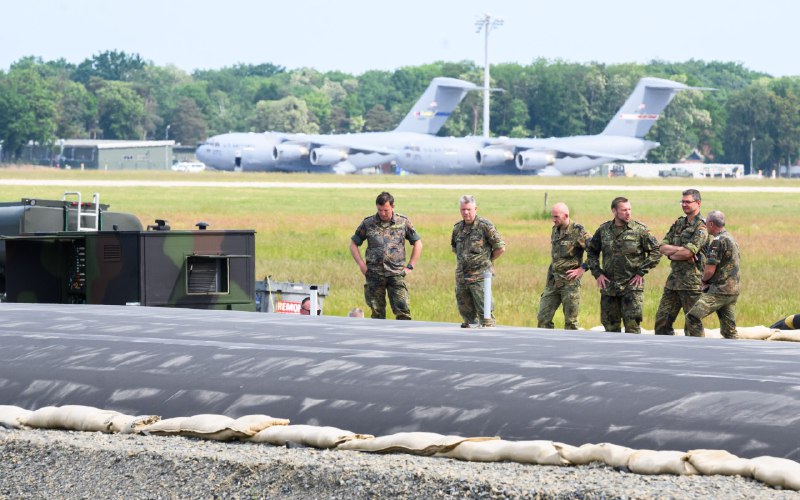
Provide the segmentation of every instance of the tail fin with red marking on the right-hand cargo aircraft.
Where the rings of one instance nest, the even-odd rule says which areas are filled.
[[[692,90],[682,83],[662,78],[642,78],[603,130],[602,135],[643,138],[655,125],[667,104],[681,90]],[[709,89],[698,89],[709,90]]]

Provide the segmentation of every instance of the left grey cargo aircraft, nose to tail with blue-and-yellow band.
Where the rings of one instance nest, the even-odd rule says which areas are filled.
[[[466,93],[480,88],[434,78],[400,125],[354,134],[229,133],[209,138],[197,159],[217,170],[353,173],[395,159],[404,145],[439,132]]]

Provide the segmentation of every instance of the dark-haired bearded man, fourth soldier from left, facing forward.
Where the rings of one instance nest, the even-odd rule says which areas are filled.
[[[600,287],[600,320],[607,332],[641,333],[644,275],[658,265],[658,241],[647,226],[631,220],[631,204],[611,202],[614,219],[603,223],[586,247],[586,263]],[[600,267],[600,255],[603,266]]]

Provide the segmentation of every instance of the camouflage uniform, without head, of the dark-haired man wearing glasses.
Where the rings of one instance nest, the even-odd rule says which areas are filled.
[[[705,248],[708,242],[706,221],[699,213],[690,222],[687,216],[679,217],[664,236],[662,245],[675,245],[691,251],[691,260],[670,261],[671,271],[664,285],[664,294],[656,312],[656,335],[675,335],[672,328],[678,313],[689,312],[700,298],[700,281],[705,267]]]

